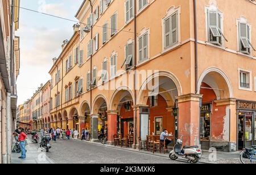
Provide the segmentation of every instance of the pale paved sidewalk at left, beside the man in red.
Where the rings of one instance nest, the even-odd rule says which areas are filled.
[[[11,153],[11,164],[55,164],[42,152],[38,144],[33,144],[28,135],[28,145],[26,146],[26,159],[19,159],[21,153]]]

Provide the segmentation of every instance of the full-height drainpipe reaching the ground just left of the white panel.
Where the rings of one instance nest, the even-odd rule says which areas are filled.
[[[136,94],[136,66],[137,66],[137,12],[136,12],[136,5],[137,1],[134,0],[134,145],[136,149],[136,144],[137,144],[137,94]]]

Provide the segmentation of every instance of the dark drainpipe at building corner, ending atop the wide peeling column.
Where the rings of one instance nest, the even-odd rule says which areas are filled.
[[[194,0],[194,31],[195,31],[195,89],[196,93],[198,91],[197,88],[197,79],[198,79],[198,52],[197,52],[197,15],[196,15],[196,0]]]

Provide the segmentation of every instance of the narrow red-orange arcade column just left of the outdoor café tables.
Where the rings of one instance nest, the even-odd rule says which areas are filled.
[[[108,144],[114,144],[114,134],[117,134],[117,113],[118,111],[110,110],[108,113]]]

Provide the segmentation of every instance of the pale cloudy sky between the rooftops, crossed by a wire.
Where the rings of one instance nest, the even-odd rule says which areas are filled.
[[[81,3],[82,0],[22,0],[20,7],[76,20]],[[19,24],[16,35],[20,36],[20,105],[31,98],[40,84],[51,79],[48,72],[52,58],[60,55],[63,40],[71,38],[75,22],[20,9]]]

